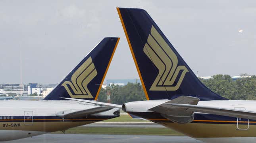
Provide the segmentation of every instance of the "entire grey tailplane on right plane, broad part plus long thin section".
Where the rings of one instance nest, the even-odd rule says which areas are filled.
[[[194,112],[256,120],[254,111],[197,105],[198,101],[199,98],[196,97],[180,96],[148,110],[161,113],[167,119],[181,123],[192,122]]]

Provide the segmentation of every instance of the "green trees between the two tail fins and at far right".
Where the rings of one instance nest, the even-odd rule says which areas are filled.
[[[210,90],[229,100],[256,100],[256,75],[233,81],[230,75],[219,74],[213,75],[211,79],[199,80]],[[115,104],[141,100],[146,100],[146,97],[140,83],[128,83],[124,86],[112,84],[106,89],[101,88],[98,96],[100,102]]]

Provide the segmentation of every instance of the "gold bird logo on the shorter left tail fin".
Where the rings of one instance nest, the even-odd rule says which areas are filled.
[[[62,86],[65,87],[71,98],[93,98],[87,85],[97,75],[97,70],[89,57],[71,76],[71,82],[65,81]],[[69,85],[69,86],[67,86]],[[70,89],[70,88],[71,89]],[[71,92],[73,91],[73,93]]]

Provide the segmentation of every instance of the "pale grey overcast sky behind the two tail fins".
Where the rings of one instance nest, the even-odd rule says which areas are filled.
[[[0,83],[20,83],[20,55],[23,83],[58,83],[109,36],[106,79],[139,78],[116,7],[145,9],[199,76],[256,74],[255,0],[1,0]]]

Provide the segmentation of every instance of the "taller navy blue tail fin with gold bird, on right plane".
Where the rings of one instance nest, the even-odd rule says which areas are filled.
[[[227,100],[205,87],[143,9],[117,8],[148,100]]]

